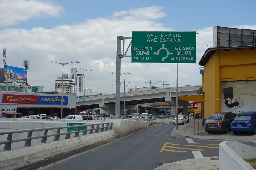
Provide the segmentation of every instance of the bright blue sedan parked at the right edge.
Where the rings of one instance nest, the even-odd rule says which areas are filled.
[[[230,125],[234,134],[237,134],[237,132],[253,132],[253,134],[256,134],[256,112],[242,112],[234,118]]]

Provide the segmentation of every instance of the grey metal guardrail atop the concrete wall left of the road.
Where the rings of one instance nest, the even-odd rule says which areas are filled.
[[[100,127],[101,125],[101,127]],[[106,126],[105,126],[106,125]],[[88,126],[91,126],[91,128],[87,128]],[[94,128],[94,126],[96,126]],[[76,130],[71,131],[71,128],[76,128]],[[84,130],[80,130],[80,127],[85,127]],[[80,132],[83,132],[82,135],[87,135],[87,131],[89,131],[89,134],[98,133],[98,132],[104,132],[108,130],[112,130],[113,127],[113,122],[108,122],[108,123],[95,123],[95,124],[83,124],[83,125],[74,125],[74,126],[62,126],[62,127],[46,127],[46,128],[36,128],[36,129],[26,129],[26,130],[14,130],[14,131],[5,131],[5,132],[0,132],[0,135],[7,135],[7,140],[6,141],[0,141],[0,145],[5,144],[3,150],[11,150],[11,144],[14,142],[21,142],[21,141],[26,141],[24,146],[31,146],[31,140],[33,139],[40,139],[42,138],[40,143],[47,143],[47,137],[52,137],[55,136],[54,141],[59,141],[60,140],[60,135],[66,135],[65,139],[70,139],[70,134],[75,133],[74,137],[78,137]],[[67,132],[61,132],[60,129],[67,129]],[[53,134],[47,134],[48,130],[57,130],[56,133]],[[44,134],[41,136],[33,136],[32,137],[32,132],[36,131],[44,131]],[[20,139],[12,139],[12,134],[14,133],[25,133],[28,132],[28,135],[26,138],[20,138]]]

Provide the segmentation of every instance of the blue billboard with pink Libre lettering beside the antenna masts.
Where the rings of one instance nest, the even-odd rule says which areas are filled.
[[[27,83],[27,69],[5,65],[4,81],[12,83]]]

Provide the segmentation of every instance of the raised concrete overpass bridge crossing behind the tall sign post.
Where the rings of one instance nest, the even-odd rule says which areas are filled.
[[[190,96],[198,94],[198,91],[202,87],[196,86],[184,86],[178,87],[178,96]],[[120,94],[120,104],[123,110],[124,97],[123,93]],[[158,88],[150,90],[142,90],[135,92],[125,92],[125,109],[128,110],[128,115],[132,114],[132,111],[138,107],[138,104],[154,103],[154,102],[167,102],[171,105],[171,115],[176,114],[176,87]],[[81,110],[101,108],[105,110],[105,114],[115,113],[115,94],[107,94],[100,96],[90,96],[84,98],[78,98],[76,106]],[[188,101],[178,100],[178,105],[188,106]],[[174,107],[175,106],[175,107]],[[183,113],[187,113],[188,107],[183,107]]]

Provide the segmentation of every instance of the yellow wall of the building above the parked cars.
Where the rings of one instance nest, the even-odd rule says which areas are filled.
[[[221,111],[222,81],[256,80],[255,69],[255,50],[216,50],[204,65],[205,118],[208,119],[211,114]]]

